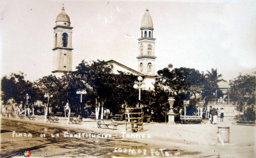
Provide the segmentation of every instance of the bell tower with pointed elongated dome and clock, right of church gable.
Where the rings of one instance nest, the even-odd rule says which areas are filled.
[[[138,71],[146,76],[155,76],[155,40],[153,22],[148,9],[143,15],[139,38]]]

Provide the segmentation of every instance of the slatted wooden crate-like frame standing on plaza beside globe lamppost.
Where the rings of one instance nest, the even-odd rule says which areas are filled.
[[[138,132],[143,130],[143,111],[142,107],[125,106],[125,129]]]

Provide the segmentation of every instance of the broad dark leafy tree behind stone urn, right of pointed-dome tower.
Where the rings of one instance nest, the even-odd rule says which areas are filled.
[[[175,97],[173,112],[179,114],[183,101],[199,93],[203,88],[204,77],[198,70],[186,67],[168,68],[157,71],[155,87],[163,87],[169,91],[169,96]]]

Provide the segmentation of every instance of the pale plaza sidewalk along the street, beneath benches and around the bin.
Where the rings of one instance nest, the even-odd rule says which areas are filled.
[[[110,129],[99,129],[95,128],[95,121],[93,119],[83,119],[82,124],[67,124],[67,119],[65,117],[59,117],[59,123],[50,123],[44,122],[44,116],[36,115],[35,120],[27,120],[25,117],[22,121],[27,122],[36,122],[49,124],[60,127],[68,127],[75,129],[83,130],[92,130],[103,133],[110,134],[119,134],[123,136],[122,132],[125,131],[125,121],[117,121],[118,130]],[[18,120],[17,118],[7,118],[12,120]],[[143,131],[132,133],[126,132],[131,136],[131,134],[139,134],[142,137],[142,134],[145,134],[147,137],[150,135],[152,139],[157,140],[170,140],[173,142],[185,143],[185,144],[199,144],[199,145],[216,145],[221,146],[221,143],[217,141],[217,131],[218,126],[229,126],[229,143],[225,143],[227,146],[248,146],[254,145],[256,140],[256,126],[245,126],[245,125],[236,125],[234,121],[230,121],[230,118],[224,117],[224,122],[218,121],[217,124],[211,124],[210,121],[203,122],[202,124],[175,124],[168,125],[165,123],[143,123]],[[19,119],[20,120],[20,119]],[[126,133],[124,134],[125,138]],[[140,139],[140,138],[138,138]]]

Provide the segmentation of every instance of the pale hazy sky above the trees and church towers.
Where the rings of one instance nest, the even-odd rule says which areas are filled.
[[[156,71],[172,64],[217,68],[225,80],[256,71],[255,0],[2,0],[1,77],[52,74],[55,20],[70,17],[73,71],[84,59],[116,60],[138,70],[140,24],[148,8],[156,38]]]

